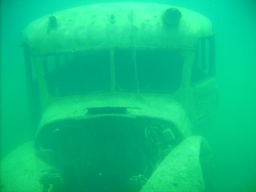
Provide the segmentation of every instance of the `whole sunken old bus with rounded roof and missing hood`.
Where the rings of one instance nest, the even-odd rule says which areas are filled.
[[[22,41],[32,120],[40,115],[35,140],[1,162],[1,191],[204,191],[214,35],[203,15],[154,3],[30,23]]]

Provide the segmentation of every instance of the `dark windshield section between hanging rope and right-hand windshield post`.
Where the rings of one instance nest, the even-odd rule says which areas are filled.
[[[140,91],[176,92],[183,70],[183,57],[176,51],[137,51],[137,73]]]

